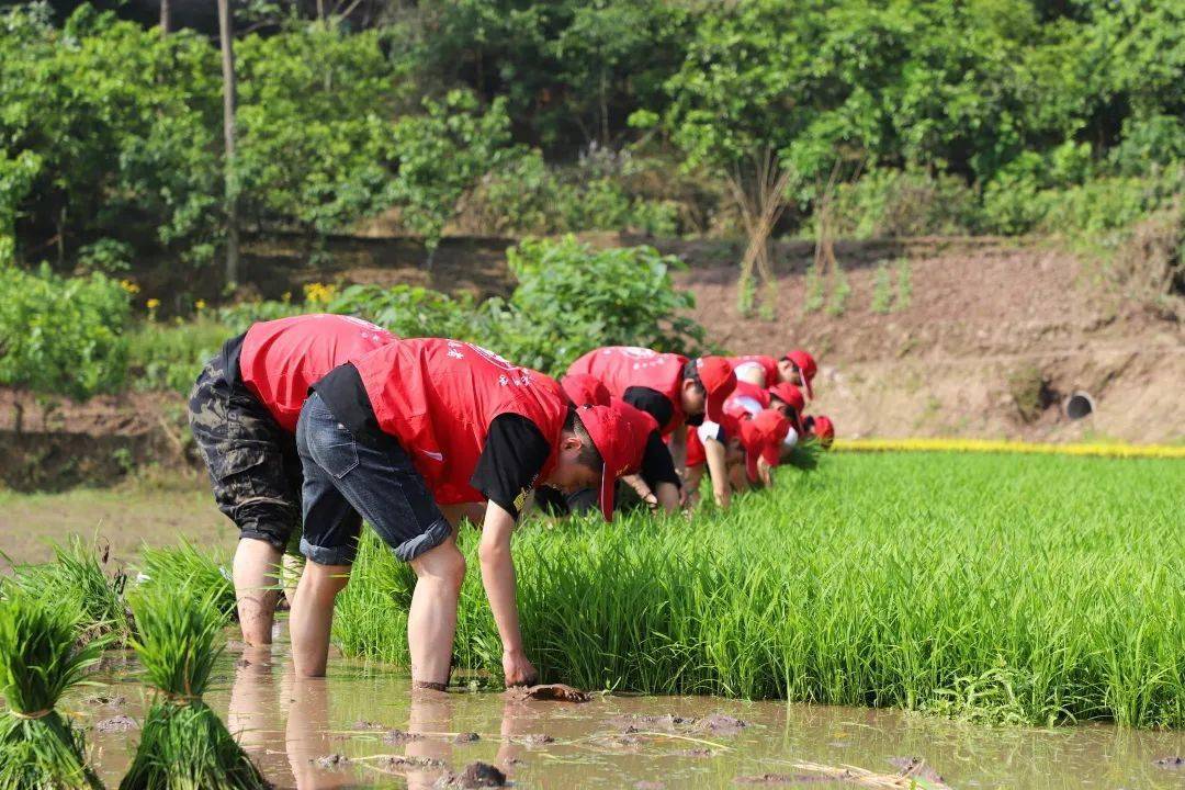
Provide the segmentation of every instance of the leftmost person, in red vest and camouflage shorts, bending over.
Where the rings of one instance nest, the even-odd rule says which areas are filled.
[[[392,340],[386,329],[341,315],[256,323],[223,345],[190,393],[190,426],[214,501],[239,529],[233,579],[248,644],[271,642],[276,569],[300,525],[295,431],[308,386]]]

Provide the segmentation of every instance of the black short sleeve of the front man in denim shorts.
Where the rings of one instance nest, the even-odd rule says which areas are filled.
[[[489,423],[469,484],[518,519],[550,455],[551,444],[534,423],[521,415],[499,415]]]

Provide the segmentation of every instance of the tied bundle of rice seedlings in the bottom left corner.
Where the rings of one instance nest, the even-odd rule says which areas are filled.
[[[0,602],[0,788],[102,788],[85,740],[55,707],[98,661],[103,640],[79,643],[78,609],[9,589]]]

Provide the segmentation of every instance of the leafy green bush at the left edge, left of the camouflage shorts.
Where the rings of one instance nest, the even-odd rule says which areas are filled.
[[[0,385],[84,399],[127,379],[128,294],[94,274],[0,265]]]

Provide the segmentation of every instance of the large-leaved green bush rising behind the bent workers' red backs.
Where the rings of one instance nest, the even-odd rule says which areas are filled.
[[[519,365],[559,373],[597,346],[647,346],[694,353],[704,328],[679,315],[694,306],[678,291],[673,256],[649,246],[594,250],[569,236],[529,239],[507,252],[519,284],[491,300],[491,345]]]

